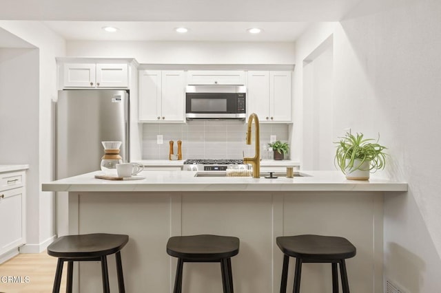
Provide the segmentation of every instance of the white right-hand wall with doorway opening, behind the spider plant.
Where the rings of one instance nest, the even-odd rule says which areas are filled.
[[[333,34],[334,138],[347,127],[373,138],[380,132],[390,158],[373,176],[409,182],[408,193],[384,195],[384,276],[407,292],[439,292],[441,2],[407,0],[356,15],[305,32],[295,78],[302,80],[299,61]],[[296,104],[301,94],[300,86]]]

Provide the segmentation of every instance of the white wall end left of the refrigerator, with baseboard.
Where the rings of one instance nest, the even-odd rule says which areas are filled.
[[[32,105],[32,125],[37,129],[29,133],[30,156],[39,158],[38,164],[32,164],[28,180],[34,182],[28,186],[28,244],[24,251],[39,252],[55,235],[55,198],[52,193],[41,192],[41,182],[54,180],[54,121],[57,100],[57,65],[56,56],[65,55],[65,41],[37,21],[0,21],[0,28],[18,36],[38,48],[39,58],[36,64],[29,64],[26,69],[38,72],[38,87],[23,107]],[[31,66],[32,65],[32,66]],[[26,87],[25,74],[19,76],[22,81],[17,87]],[[37,134],[38,133],[38,134]],[[38,135],[35,138],[34,135]],[[23,162],[24,163],[24,162]]]

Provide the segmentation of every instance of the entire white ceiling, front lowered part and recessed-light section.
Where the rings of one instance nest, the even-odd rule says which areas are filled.
[[[0,0],[0,19],[37,20],[67,40],[295,41],[362,0]],[[23,9],[26,8],[26,9]],[[103,26],[119,28],[104,32]],[[174,28],[189,28],[186,34]],[[263,32],[252,35],[248,28]]]

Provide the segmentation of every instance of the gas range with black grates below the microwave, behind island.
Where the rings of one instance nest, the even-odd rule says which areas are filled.
[[[249,169],[243,160],[189,159],[184,162],[184,170],[186,171],[226,171],[228,168]]]

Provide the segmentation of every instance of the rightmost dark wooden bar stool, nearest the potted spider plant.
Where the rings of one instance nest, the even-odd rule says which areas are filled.
[[[337,263],[339,263],[343,293],[349,293],[345,259],[356,255],[356,247],[347,239],[333,236],[298,235],[277,237],[276,243],[284,254],[280,293],[287,291],[289,257],[296,258],[293,293],[300,292],[302,263],[332,263],[333,293],[338,293]]]

